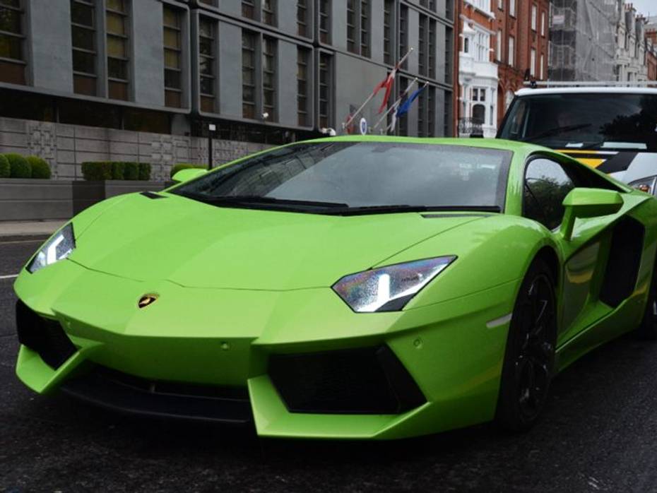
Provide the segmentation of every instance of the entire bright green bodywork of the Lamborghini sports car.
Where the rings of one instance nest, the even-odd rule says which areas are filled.
[[[559,156],[550,150],[483,139],[318,142],[349,140],[508,150],[504,213],[291,213],[215,207],[171,189],[166,200],[109,199],[73,218],[68,259],[16,280],[18,298],[61,323],[77,348],[52,369],[22,345],[20,380],[47,393],[93,362],[143,379],[247,387],[261,436],[398,439],[495,417],[511,313],[536,256],[557,273],[558,370],[641,320],[656,256],[653,198],[617,184],[620,210],[577,219],[567,241],[521,215],[525,163]],[[644,225],[644,246],[632,295],[612,308],[594,293],[626,217]],[[448,255],[456,261],[401,311],[355,313],[331,289],[372,267]],[[158,299],[139,309],[145,294]],[[377,345],[426,403],[391,415],[290,412],[267,374],[271,355]]]

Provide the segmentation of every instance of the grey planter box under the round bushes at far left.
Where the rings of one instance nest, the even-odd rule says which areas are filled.
[[[0,221],[57,220],[72,215],[72,182],[0,179]]]

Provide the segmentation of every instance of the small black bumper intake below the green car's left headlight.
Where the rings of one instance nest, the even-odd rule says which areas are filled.
[[[20,300],[16,302],[16,331],[18,341],[39,353],[53,369],[61,367],[76,352],[59,321],[45,319]]]

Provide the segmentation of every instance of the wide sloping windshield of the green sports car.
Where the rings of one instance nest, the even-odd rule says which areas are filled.
[[[172,191],[217,206],[338,213],[363,208],[502,210],[511,153],[456,145],[301,143]]]

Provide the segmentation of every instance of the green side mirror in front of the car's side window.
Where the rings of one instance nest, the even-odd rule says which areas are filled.
[[[565,240],[572,237],[576,218],[598,218],[601,215],[617,213],[623,206],[623,198],[613,190],[572,189],[564,198],[564,220],[561,234]]]

